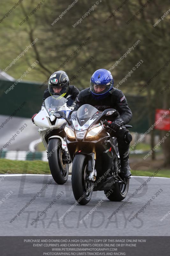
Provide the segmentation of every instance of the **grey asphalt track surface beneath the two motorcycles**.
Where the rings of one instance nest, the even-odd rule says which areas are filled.
[[[126,199],[147,179],[148,177],[132,177]],[[51,184],[48,185],[49,180]],[[41,190],[45,186],[46,189]],[[57,185],[51,175],[9,174],[3,180],[1,174],[0,236],[170,236],[170,215],[160,221],[170,211],[169,186],[168,178],[152,178],[110,220],[107,218],[123,204],[123,201],[111,202],[106,198],[100,206],[96,207],[96,210],[91,211],[104,196],[103,191],[93,192],[89,204],[75,205],[68,215],[59,220],[75,203],[70,176],[64,185]],[[161,190],[163,192],[159,192],[156,196],[155,194]],[[40,191],[42,193],[35,198],[34,196]],[[59,198],[58,195],[61,194]],[[155,198],[152,199],[151,204],[147,205],[137,218],[129,222],[129,219],[152,196]],[[33,197],[35,200],[27,204],[27,208],[18,214]],[[51,208],[48,207],[50,203]],[[44,209],[48,212],[31,225],[30,223]],[[80,220],[90,211],[88,219],[80,223]],[[11,221],[15,215],[17,218]]]

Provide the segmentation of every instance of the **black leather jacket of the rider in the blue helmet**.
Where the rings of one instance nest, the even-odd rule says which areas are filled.
[[[92,105],[101,111],[104,111],[107,108],[115,108],[119,112],[123,124],[128,124],[132,118],[132,112],[123,92],[115,88],[112,90],[112,93],[103,100],[96,100],[93,98],[89,88],[81,91],[76,98],[76,106],[73,111],[78,110],[78,108],[84,104]]]

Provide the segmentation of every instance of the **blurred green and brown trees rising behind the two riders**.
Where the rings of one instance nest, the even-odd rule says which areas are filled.
[[[125,95],[145,95],[147,97],[145,102],[136,102],[137,110],[133,113],[133,120],[137,123],[147,116],[151,126],[154,123],[155,109],[169,108],[170,90],[163,94],[160,92],[169,83],[170,65],[157,75],[144,90],[141,92],[139,90],[170,59],[170,13],[154,27],[155,22],[169,10],[169,1],[165,0],[160,3],[159,0],[149,0],[147,2],[148,4],[145,6],[145,0],[122,2],[118,0],[102,0],[100,2],[99,0],[99,4],[92,10],[95,2],[79,0],[67,11],[73,0],[46,0],[29,17],[29,14],[40,2],[38,0],[23,1],[0,22],[0,68],[6,68],[26,46],[38,38],[38,42],[12,65],[8,73],[18,79],[35,60],[39,60],[39,64],[24,79],[44,82],[90,36],[91,39],[87,44],[61,68],[71,78],[80,67],[84,66],[86,60],[93,56],[94,60],[71,81],[71,84],[79,88],[86,88],[96,69],[110,69],[137,40],[140,40],[134,50],[121,60],[117,67],[112,69],[112,74],[115,85],[119,85],[118,89],[122,90]],[[7,0],[1,3],[0,19],[15,3],[16,0]],[[61,19],[51,25],[65,10],[66,13],[61,16]],[[74,28],[73,25],[86,12],[89,12],[87,17]],[[115,12],[114,16],[113,12]],[[127,21],[134,15],[135,19],[127,24]],[[20,26],[19,23],[26,16],[29,19]],[[137,68],[136,64],[140,60],[143,63]],[[136,70],[127,77],[125,82],[122,82],[122,78],[134,67]],[[170,152],[169,145],[170,139],[168,138],[165,143],[167,152]],[[170,164],[170,155],[167,155],[166,159],[169,159]]]

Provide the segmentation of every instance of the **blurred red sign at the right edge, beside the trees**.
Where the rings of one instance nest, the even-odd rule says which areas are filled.
[[[155,113],[155,129],[169,131],[170,130],[170,111],[169,109],[156,109]]]

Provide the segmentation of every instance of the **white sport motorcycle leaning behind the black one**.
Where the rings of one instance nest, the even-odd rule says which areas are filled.
[[[71,163],[66,142],[63,140],[64,131],[60,127],[65,123],[64,118],[56,118],[55,111],[63,111],[66,117],[74,108],[67,107],[68,100],[61,96],[48,97],[41,107],[41,111],[34,117],[34,123],[39,126],[38,132],[48,152],[48,163],[53,179],[57,184],[64,184],[69,175]]]

